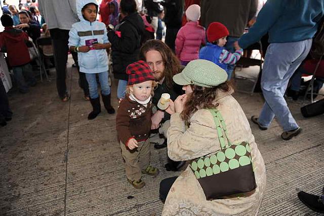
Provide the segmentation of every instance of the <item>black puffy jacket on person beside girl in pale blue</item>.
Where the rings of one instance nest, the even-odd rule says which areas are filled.
[[[142,17],[138,13],[134,13],[121,20],[115,31],[108,32],[112,49],[114,78],[128,80],[126,67],[139,59],[141,38],[144,30]],[[117,35],[118,31],[120,32],[120,38]]]

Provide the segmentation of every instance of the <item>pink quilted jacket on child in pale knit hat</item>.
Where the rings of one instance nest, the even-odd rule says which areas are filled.
[[[181,61],[198,59],[201,44],[206,44],[205,28],[198,21],[187,22],[177,34],[176,55]]]

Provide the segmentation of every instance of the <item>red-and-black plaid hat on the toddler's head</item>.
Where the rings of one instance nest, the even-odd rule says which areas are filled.
[[[128,85],[143,83],[148,80],[155,80],[151,68],[145,61],[137,61],[127,66],[126,74],[128,77]]]

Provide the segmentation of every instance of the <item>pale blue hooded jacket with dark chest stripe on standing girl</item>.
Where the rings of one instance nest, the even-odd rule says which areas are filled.
[[[69,32],[69,47],[88,46],[91,40],[97,40],[99,44],[109,43],[105,24],[98,21],[90,22],[83,17],[81,10],[89,3],[97,5],[95,0],[77,1],[77,15],[80,21],[74,23]],[[80,72],[96,74],[108,71],[108,55],[105,49],[89,50],[86,53],[78,52],[77,57]]]

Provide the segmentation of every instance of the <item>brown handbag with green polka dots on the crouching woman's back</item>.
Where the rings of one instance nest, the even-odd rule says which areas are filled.
[[[216,109],[210,112],[214,117],[221,150],[190,163],[207,200],[240,196],[253,191],[256,182],[249,143],[231,143],[220,112]]]

